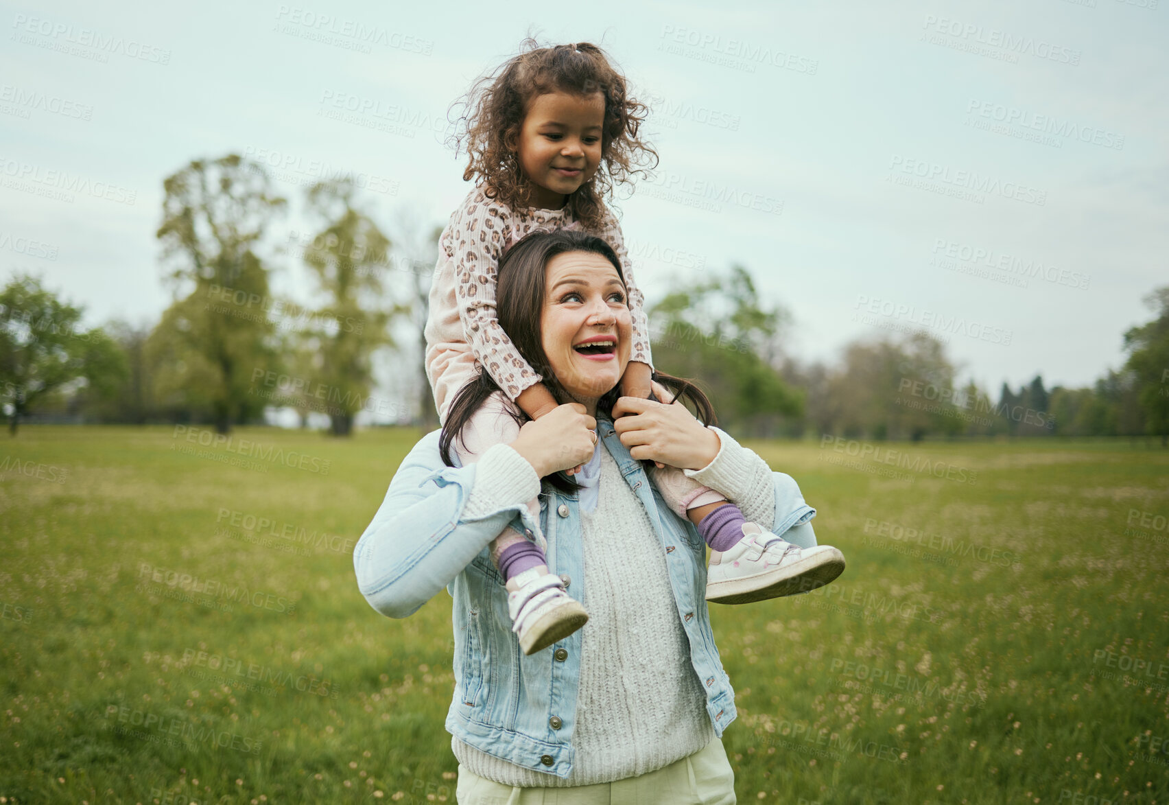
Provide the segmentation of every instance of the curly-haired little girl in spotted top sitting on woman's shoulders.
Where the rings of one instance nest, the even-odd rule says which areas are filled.
[[[652,399],[656,391],[658,400],[669,401],[665,390],[652,383],[644,300],[621,227],[603,201],[614,181],[629,181],[642,157],[652,154],[656,164],[657,153],[637,138],[646,108],[627,96],[624,77],[596,46],[539,48],[526,40],[528,44],[498,75],[484,78],[482,91],[472,89],[469,96],[470,161],[463,179],[476,179],[476,186],[442,232],[430,287],[426,369],[440,421],[447,421],[455,393],[479,371],[489,372],[509,398],[498,394],[454,441],[464,466],[487,447],[516,439],[519,426],[509,408],[518,405],[538,419],[558,406],[499,326],[494,308],[500,255],[537,228],[582,228],[613,246],[624,269],[634,333],[622,394]],[[600,454],[594,452],[588,463],[568,473],[581,484],[586,510],[596,500],[599,470]],[[712,549],[707,600],[739,604],[803,592],[844,570],[835,548],[802,553],[747,522],[738,507],[682,470],[659,466],[650,473],[670,508],[694,523]],[[538,501],[530,501],[528,508],[538,520]],[[551,646],[588,620],[566,592],[568,580],[548,572],[546,546],[542,535],[509,527],[490,550],[509,590],[512,631],[525,654]]]

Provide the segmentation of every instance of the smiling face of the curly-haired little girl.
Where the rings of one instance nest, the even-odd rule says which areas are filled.
[[[565,198],[593,178],[601,165],[604,95],[554,91],[528,102],[520,126],[520,167],[533,183],[532,204],[560,209]]]

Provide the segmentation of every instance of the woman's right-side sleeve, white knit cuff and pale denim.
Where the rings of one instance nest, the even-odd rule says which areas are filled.
[[[719,436],[718,454],[701,469],[684,469],[683,473],[722,493],[739,507],[743,517],[775,534],[782,535],[816,516],[816,510],[804,502],[795,479],[773,472],[755,450],[743,447],[721,428],[708,427]]]

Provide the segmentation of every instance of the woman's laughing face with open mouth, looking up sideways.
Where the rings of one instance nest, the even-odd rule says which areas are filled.
[[[629,364],[632,317],[621,275],[593,252],[566,252],[545,266],[540,332],[560,385],[595,412]]]

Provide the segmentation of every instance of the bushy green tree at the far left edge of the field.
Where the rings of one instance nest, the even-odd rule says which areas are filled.
[[[32,275],[0,291],[0,400],[8,433],[39,400],[76,380],[106,390],[125,377],[125,359],[99,328],[78,330],[82,309],[61,302]]]

